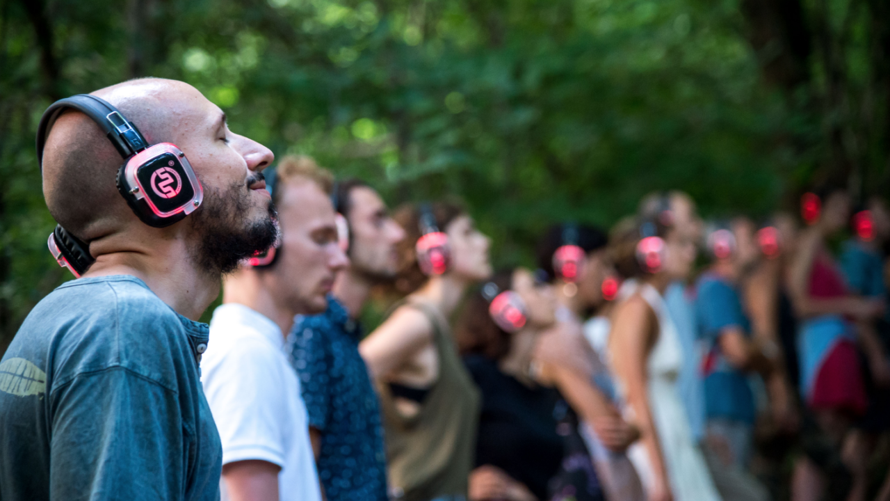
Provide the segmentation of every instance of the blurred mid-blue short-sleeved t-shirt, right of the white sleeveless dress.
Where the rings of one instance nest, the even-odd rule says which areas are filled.
[[[727,327],[740,327],[750,335],[750,323],[741,307],[739,293],[732,283],[713,275],[703,275],[698,283],[695,311],[700,335],[708,341],[703,362],[705,376],[705,415],[753,424],[754,394],[748,375],[732,367],[720,352],[719,339]]]

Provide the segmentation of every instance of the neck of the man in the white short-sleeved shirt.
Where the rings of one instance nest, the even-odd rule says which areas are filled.
[[[238,303],[253,309],[277,324],[282,336],[287,336],[294,326],[294,316],[299,312],[279,300],[281,295],[271,291],[266,284],[269,277],[263,276],[264,273],[267,272],[240,269],[226,276],[223,282],[223,303]]]

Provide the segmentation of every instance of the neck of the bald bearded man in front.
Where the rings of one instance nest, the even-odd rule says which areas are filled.
[[[181,239],[118,235],[90,242],[90,252],[98,257],[84,276],[133,275],[191,320],[198,320],[219,296],[220,276],[201,270]]]

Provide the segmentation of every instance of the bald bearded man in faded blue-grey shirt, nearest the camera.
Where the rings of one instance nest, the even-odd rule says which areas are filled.
[[[208,330],[196,320],[222,275],[276,238],[261,174],[273,156],[182,82],[93,95],[142,138],[106,136],[103,114],[73,109],[38,138],[46,205],[89,256],[0,362],[0,499],[218,499],[222,452],[198,368]],[[203,185],[199,207],[166,227],[137,216],[122,196],[135,192],[116,186],[121,157],[158,143],[178,146]]]

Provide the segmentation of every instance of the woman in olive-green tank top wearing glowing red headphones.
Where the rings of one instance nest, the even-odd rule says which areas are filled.
[[[395,285],[409,296],[361,341],[384,415],[395,499],[462,500],[473,466],[479,390],[457,355],[449,316],[491,275],[489,238],[449,203],[407,206]]]

